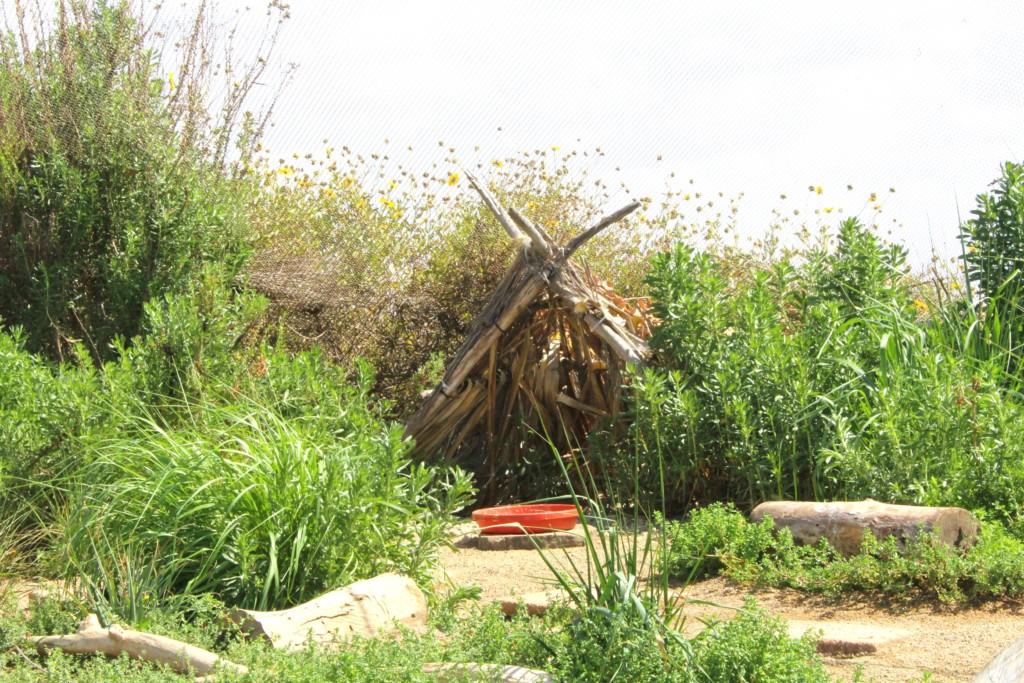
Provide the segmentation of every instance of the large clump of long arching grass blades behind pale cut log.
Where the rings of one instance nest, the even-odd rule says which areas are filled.
[[[285,380],[263,401],[182,405],[190,419],[172,425],[139,412],[92,444],[63,543],[97,602],[209,592],[268,608],[382,571],[426,579],[467,478],[410,463],[369,372],[347,384],[315,358],[269,362],[286,376],[294,362],[293,385],[331,388],[300,386],[301,407]]]

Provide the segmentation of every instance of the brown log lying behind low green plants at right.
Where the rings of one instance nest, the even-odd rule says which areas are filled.
[[[860,551],[865,530],[878,539],[895,536],[902,543],[924,528],[956,548],[974,545],[978,537],[978,520],[962,508],[889,505],[869,499],[837,503],[773,501],[751,512],[755,522],[766,516],[772,518],[775,528],[788,528],[797,543],[815,545],[826,539],[844,555]]]

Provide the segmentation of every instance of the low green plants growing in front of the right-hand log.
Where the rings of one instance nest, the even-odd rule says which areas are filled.
[[[868,592],[946,603],[1024,596],[1024,543],[995,521],[984,522],[978,542],[967,550],[929,533],[905,543],[866,533],[860,552],[844,557],[825,541],[800,546],[770,519],[751,523],[731,505],[713,504],[686,521],[667,522],[666,537],[664,566],[681,579],[721,573],[744,584],[831,597]]]

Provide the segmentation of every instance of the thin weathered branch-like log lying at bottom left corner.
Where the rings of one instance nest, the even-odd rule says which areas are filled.
[[[193,673],[197,676],[207,676],[218,669],[240,674],[248,671],[242,665],[180,640],[143,631],[131,631],[120,626],[104,629],[95,614],[85,617],[78,633],[39,636],[33,640],[40,654],[54,648],[69,654],[105,654],[111,657],[127,654],[134,659],[152,661],[170,667],[178,673]]]

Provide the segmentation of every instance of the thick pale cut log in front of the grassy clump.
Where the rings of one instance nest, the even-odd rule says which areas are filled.
[[[422,632],[427,599],[412,579],[384,573],[325,593],[290,609],[237,609],[231,618],[251,637],[276,649],[298,650],[313,642],[335,647],[351,636],[377,636],[397,625]]]

